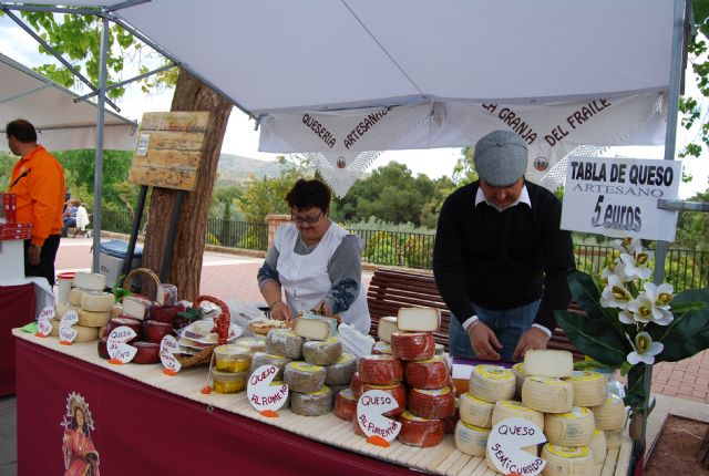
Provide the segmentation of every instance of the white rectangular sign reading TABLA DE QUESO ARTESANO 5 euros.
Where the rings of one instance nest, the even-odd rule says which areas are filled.
[[[674,241],[677,211],[657,208],[657,200],[677,198],[681,178],[677,161],[571,157],[562,228]]]

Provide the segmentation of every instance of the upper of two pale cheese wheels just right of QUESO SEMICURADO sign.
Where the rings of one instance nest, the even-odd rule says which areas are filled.
[[[584,406],[574,406],[568,413],[544,415],[544,434],[553,445],[588,446],[595,430],[594,414]]]

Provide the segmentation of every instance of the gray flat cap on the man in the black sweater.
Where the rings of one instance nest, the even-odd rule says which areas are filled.
[[[512,185],[527,169],[527,145],[512,131],[493,131],[475,144],[473,162],[487,184]]]

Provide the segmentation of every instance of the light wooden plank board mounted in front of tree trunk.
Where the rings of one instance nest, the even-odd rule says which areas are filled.
[[[129,182],[192,192],[202,161],[209,113],[145,113]]]

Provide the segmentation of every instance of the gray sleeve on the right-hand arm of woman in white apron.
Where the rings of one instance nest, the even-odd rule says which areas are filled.
[[[323,301],[332,314],[347,311],[362,287],[362,261],[359,237],[348,235],[335,250],[328,262],[328,276],[332,288]]]

